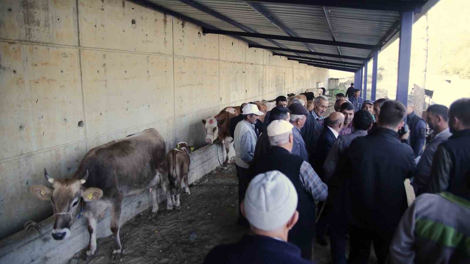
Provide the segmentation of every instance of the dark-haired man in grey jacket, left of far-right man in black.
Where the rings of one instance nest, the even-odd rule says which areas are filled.
[[[446,141],[452,133],[447,124],[448,108],[444,105],[433,104],[427,109],[427,120],[429,127],[434,132],[434,136],[426,145],[421,158],[417,164],[416,176],[411,185],[415,189],[416,196],[427,192],[429,177],[431,174],[432,158],[439,144]]]

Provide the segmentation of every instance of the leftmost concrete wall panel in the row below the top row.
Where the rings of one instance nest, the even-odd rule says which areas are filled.
[[[0,159],[82,140],[76,49],[0,42]]]

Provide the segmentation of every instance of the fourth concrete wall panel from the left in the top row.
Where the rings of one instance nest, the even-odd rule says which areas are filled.
[[[247,48],[246,42],[219,35],[219,58],[222,61],[246,62]]]

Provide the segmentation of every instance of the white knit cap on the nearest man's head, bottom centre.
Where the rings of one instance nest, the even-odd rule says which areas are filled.
[[[297,210],[297,202],[297,191],[290,179],[280,171],[268,171],[251,180],[243,210],[251,225],[272,231],[287,224]]]

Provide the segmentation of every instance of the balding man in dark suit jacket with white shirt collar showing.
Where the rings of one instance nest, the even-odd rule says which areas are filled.
[[[329,150],[333,146],[333,143],[338,138],[339,132],[345,122],[345,116],[340,112],[334,112],[329,115],[328,126],[321,132],[320,138],[316,145],[315,155],[310,159],[310,163],[313,164],[313,169],[317,171],[320,179],[323,179],[323,163],[325,163],[326,156]],[[319,208],[323,206],[323,202],[319,204]],[[317,241],[320,245],[326,246],[327,241],[325,239],[326,229],[328,226],[328,212],[323,210],[320,220],[317,224]]]

